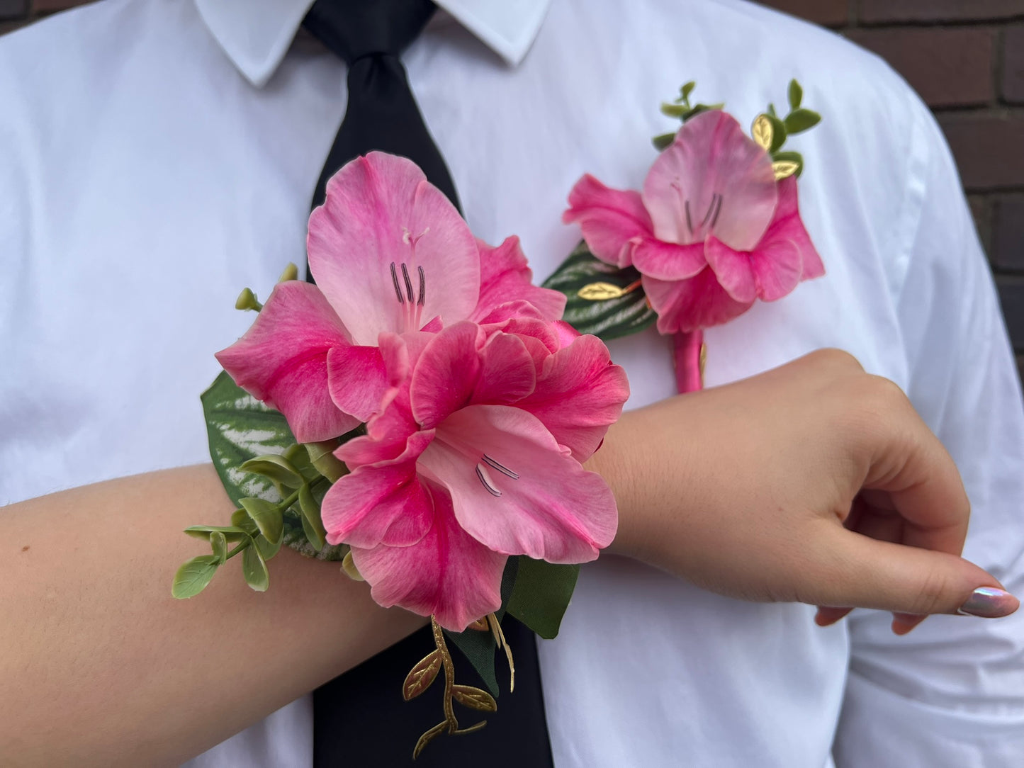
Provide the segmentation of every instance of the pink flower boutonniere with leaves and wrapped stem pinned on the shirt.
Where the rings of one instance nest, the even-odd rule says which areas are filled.
[[[662,105],[682,127],[654,138],[642,190],[590,174],[577,182],[562,218],[583,242],[544,284],[566,294],[564,319],[583,333],[608,340],[656,325],[672,336],[680,392],[702,386],[703,329],[824,274],[800,218],[804,161],[783,150],[820,121],[800,84],[790,83],[788,114],[769,105],[750,136],[724,104],[691,105],[693,88]]]

